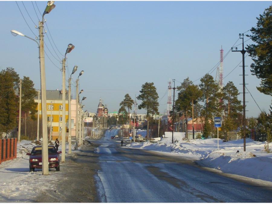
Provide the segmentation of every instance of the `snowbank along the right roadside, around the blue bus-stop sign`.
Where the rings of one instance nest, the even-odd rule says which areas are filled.
[[[139,131],[139,134],[141,133],[146,134],[146,131]],[[224,173],[272,182],[272,153],[264,152],[266,142],[246,139],[244,152],[243,139],[228,142],[219,139],[219,150],[217,150],[217,138],[187,140],[185,133],[174,132],[173,135],[173,144],[172,132],[166,132],[165,138],[157,143],[133,142],[126,147],[180,155],[195,160],[201,166],[221,170]],[[236,153],[237,151],[239,152]]]

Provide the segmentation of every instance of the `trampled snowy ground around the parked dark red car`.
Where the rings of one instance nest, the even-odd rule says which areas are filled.
[[[53,145],[51,142],[49,145]],[[37,193],[55,189],[55,184],[63,176],[62,170],[52,170],[53,173],[49,170],[48,176],[43,176],[41,169],[29,172],[29,156],[26,153],[37,145],[40,144],[22,140],[17,144],[17,158],[0,164],[0,202],[34,202]]]

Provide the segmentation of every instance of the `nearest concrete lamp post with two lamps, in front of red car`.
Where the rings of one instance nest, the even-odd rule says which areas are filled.
[[[34,40],[39,47],[39,58],[40,58],[40,87],[41,87],[41,106],[42,106],[42,129],[43,129],[43,143],[42,143],[42,160],[48,161],[48,135],[47,135],[47,110],[46,110],[46,85],[45,85],[45,63],[44,63],[44,15],[48,14],[53,8],[55,8],[54,1],[48,1],[47,6],[42,15],[42,21],[39,21],[39,37],[40,44],[37,40],[34,40],[31,37],[28,37],[18,31],[11,31],[13,35],[21,35],[27,37],[31,40]],[[47,162],[42,164],[42,173],[43,175],[48,175],[48,165]]]

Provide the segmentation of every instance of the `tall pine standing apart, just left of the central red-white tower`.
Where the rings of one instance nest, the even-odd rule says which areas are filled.
[[[144,83],[140,91],[140,95],[137,97],[142,103],[138,106],[139,109],[146,109],[147,111],[147,139],[149,138],[149,115],[158,112],[158,93],[154,86],[154,83]]]

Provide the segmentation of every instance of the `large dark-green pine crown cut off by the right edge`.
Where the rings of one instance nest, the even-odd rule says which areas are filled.
[[[254,62],[250,67],[252,74],[261,79],[261,86],[257,89],[272,96],[272,6],[266,8],[257,20],[257,25],[250,30],[252,35],[247,35],[255,42],[247,47]]]

